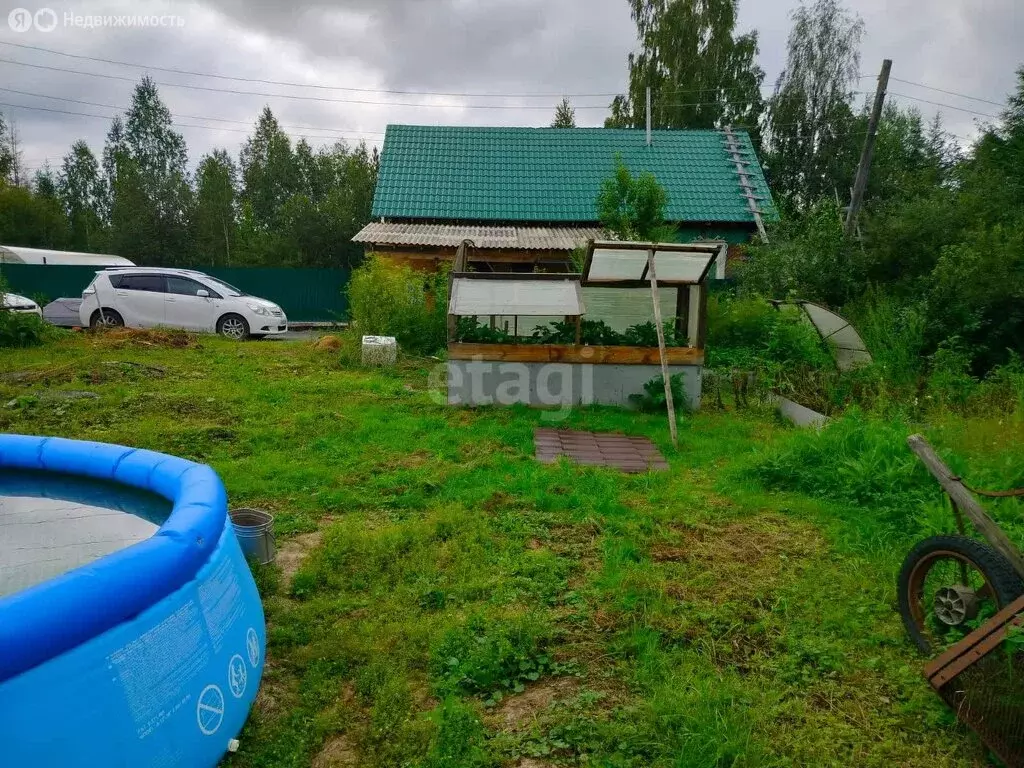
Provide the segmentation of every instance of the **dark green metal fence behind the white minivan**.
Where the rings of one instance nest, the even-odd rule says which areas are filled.
[[[289,321],[342,321],[348,316],[348,298],[344,293],[348,269],[201,267],[200,270],[280,304]],[[95,273],[94,266],[0,265],[0,274],[13,293],[47,301],[81,296]]]

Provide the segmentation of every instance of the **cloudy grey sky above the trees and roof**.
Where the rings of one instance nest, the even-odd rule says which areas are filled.
[[[388,123],[546,125],[562,94],[579,125],[597,126],[636,44],[627,0],[4,1],[0,111],[17,126],[30,170],[58,166],[78,138],[98,154],[110,118],[146,72],[195,163],[217,146],[237,153],[264,104],[314,145],[380,144]],[[782,67],[798,2],[740,0],[740,29],[760,33],[766,84]],[[888,56],[895,78],[983,99],[892,83],[897,101],[928,117],[940,111],[953,134],[970,138],[976,121],[999,112],[1024,62],[1021,0],[848,5],[866,26],[864,90]],[[27,30],[25,11],[36,22]],[[127,14],[160,24],[72,22]]]

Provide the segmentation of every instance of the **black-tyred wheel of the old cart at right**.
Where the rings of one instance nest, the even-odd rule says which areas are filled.
[[[899,573],[899,612],[924,653],[958,642],[1024,594],[1024,580],[987,544],[936,536],[914,547]]]

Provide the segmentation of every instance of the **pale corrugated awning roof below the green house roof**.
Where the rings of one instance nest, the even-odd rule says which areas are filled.
[[[481,249],[571,251],[601,237],[602,230],[597,226],[474,226],[374,221],[362,227],[352,242],[458,248],[464,240],[471,240]]]

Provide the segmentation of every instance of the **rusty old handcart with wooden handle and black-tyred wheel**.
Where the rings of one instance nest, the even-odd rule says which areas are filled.
[[[1024,766],[1024,557],[975,499],[1024,497],[1024,488],[972,488],[924,437],[907,442],[949,497],[958,536],[932,537],[907,555],[903,624],[933,656],[925,676],[957,719],[1008,766]],[[984,543],[968,537],[965,518]]]

